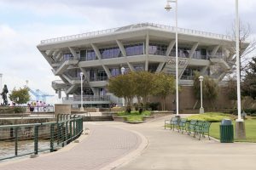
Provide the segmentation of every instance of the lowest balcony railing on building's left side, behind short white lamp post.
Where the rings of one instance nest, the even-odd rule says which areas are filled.
[[[73,97],[65,97],[62,98],[62,100],[72,100],[72,101],[80,101],[81,100],[81,96],[76,95]],[[84,95],[83,96],[83,101],[109,101],[110,100],[110,96],[109,95],[100,95],[100,96],[94,96],[94,95]]]

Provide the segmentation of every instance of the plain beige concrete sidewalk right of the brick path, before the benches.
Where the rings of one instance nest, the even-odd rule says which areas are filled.
[[[256,144],[221,144],[216,140],[193,138],[192,135],[164,129],[163,117],[140,125],[124,125],[142,133],[148,147],[141,156],[116,168],[118,170],[255,170]],[[113,126],[120,127],[121,124]]]

